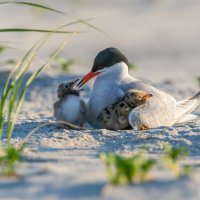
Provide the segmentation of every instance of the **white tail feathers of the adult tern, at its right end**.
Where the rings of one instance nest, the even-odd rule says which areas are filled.
[[[198,116],[190,114],[200,104],[200,92],[193,97],[178,101],[176,105],[176,123],[186,122]]]

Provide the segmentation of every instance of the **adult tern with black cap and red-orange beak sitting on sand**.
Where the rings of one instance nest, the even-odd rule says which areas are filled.
[[[200,92],[192,98],[176,101],[173,96],[153,85],[132,77],[128,72],[128,64],[126,56],[117,48],[106,48],[97,54],[91,71],[78,83],[77,86],[81,87],[96,77],[87,105],[87,118],[92,126],[105,128],[99,123],[98,115],[122,99],[130,89],[152,94],[147,103],[154,117],[149,120],[154,120],[156,126],[172,126],[197,117],[190,113],[199,105]],[[147,113],[140,113],[143,114]]]

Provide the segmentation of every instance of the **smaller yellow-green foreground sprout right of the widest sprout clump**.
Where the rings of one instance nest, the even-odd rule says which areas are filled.
[[[180,163],[188,154],[188,150],[184,147],[172,148],[170,145],[166,145],[162,160],[176,177],[181,177],[191,171],[189,165],[182,167]]]

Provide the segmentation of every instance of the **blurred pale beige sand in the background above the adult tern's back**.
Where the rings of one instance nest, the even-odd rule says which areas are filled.
[[[136,77],[152,82],[173,80],[197,87],[200,76],[199,0],[35,0],[34,3],[61,10],[69,16],[3,4],[0,6],[1,28],[53,29],[74,18],[92,18],[89,23],[106,33],[84,24],[65,28],[83,31],[74,36],[61,53],[62,58],[69,61],[68,73],[87,73],[96,54],[113,46],[134,64],[131,74]],[[0,42],[8,42],[6,45],[25,52],[41,35],[0,33]],[[39,59],[50,56],[64,37],[63,34],[54,36],[39,54]],[[0,55],[0,60],[21,58],[24,52],[9,49]]]

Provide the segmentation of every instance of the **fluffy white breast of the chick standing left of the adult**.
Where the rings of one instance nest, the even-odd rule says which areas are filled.
[[[76,95],[67,96],[60,109],[66,121],[76,123],[80,116],[80,97]]]

